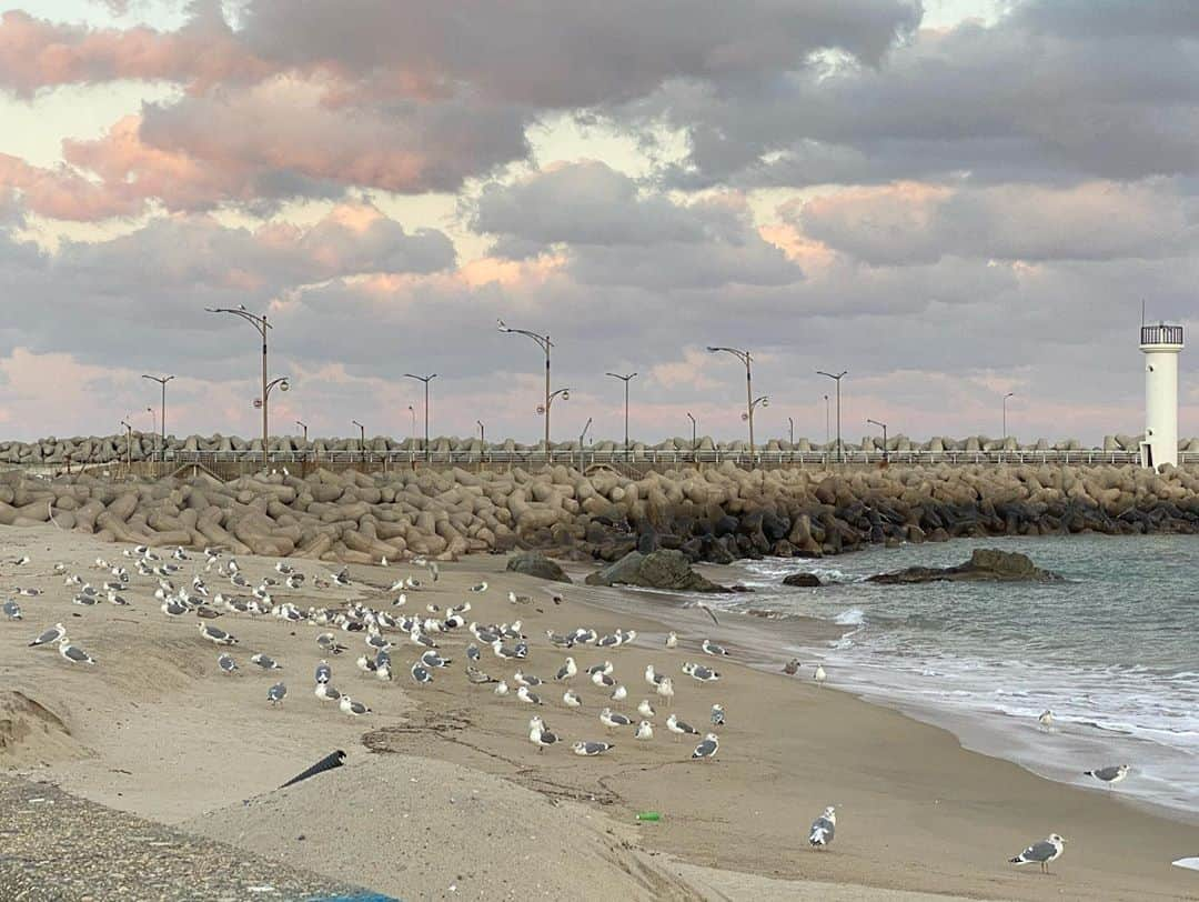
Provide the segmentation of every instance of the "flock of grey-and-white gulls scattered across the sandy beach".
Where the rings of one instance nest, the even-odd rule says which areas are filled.
[[[605,730],[605,739],[582,736],[568,742],[571,752],[580,757],[597,757],[608,754],[617,747],[617,742],[611,741],[614,735],[631,734],[634,741],[650,742],[655,739],[655,730],[658,727],[658,710],[653,706],[652,698],[664,705],[669,714],[662,724],[665,732],[673,734],[675,741],[681,741],[688,736],[695,741],[691,752],[692,760],[711,762],[721,751],[721,738],[716,732],[701,732],[695,726],[682,720],[673,710],[675,704],[675,678],[658,673],[655,666],[647,665],[644,672],[644,690],[646,696],[637,704],[637,716],[617,710],[620,703],[629,697],[629,686],[635,685],[635,680],[621,680],[616,675],[616,668],[610,660],[580,666],[576,655],[589,649],[596,653],[610,654],[615,649],[627,647],[638,639],[633,630],[615,630],[611,633],[600,635],[595,630],[579,626],[570,632],[558,633],[553,630],[546,631],[547,643],[552,653],[566,654],[565,657],[553,663],[548,672],[552,676],[548,680],[537,676],[529,669],[534,649],[530,637],[523,632],[519,618],[506,623],[480,624],[476,620],[468,620],[472,609],[470,601],[442,609],[439,605],[428,603],[423,612],[412,611],[404,613],[408,606],[408,594],[420,593],[424,583],[414,577],[406,576],[394,581],[386,591],[382,602],[370,606],[363,600],[345,601],[330,607],[308,607],[301,609],[294,602],[276,601],[275,595],[282,591],[295,591],[308,584],[306,575],[300,572],[294,565],[279,561],[275,565],[276,577],[263,577],[252,583],[241,565],[235,558],[225,558],[221,549],[206,548],[204,551],[203,575],[195,572],[191,579],[182,576],[185,563],[191,560],[191,555],[183,548],[176,548],[173,553],[163,557],[159,552],[145,546],[138,546],[123,552],[132,564],[129,566],[120,563],[113,565],[109,561],[97,558],[95,566],[106,571],[104,581],[98,585],[92,585],[79,575],[66,575],[67,569],[55,565],[55,573],[66,575],[64,584],[74,588],[72,602],[79,606],[95,606],[102,601],[116,606],[128,606],[125,593],[128,591],[132,575],[157,579],[155,597],[161,602],[159,609],[167,618],[197,618],[195,626],[200,639],[212,643],[221,649],[217,655],[217,668],[222,674],[233,676],[240,672],[234,653],[230,650],[240,643],[229,631],[221,629],[212,623],[223,615],[245,615],[249,618],[275,617],[288,623],[305,623],[324,631],[315,637],[315,644],[327,657],[321,659],[314,673],[314,694],[326,702],[337,703],[338,710],[350,717],[369,716],[372,710],[361,700],[351,698],[349,694],[333,686],[333,671],[329,663],[329,657],[337,657],[349,651],[350,636],[359,633],[364,650],[359,655],[356,666],[360,673],[378,681],[390,682],[394,678],[394,666],[392,653],[403,647],[410,647],[416,657],[410,663],[405,662],[405,669],[415,686],[428,686],[441,679],[440,672],[453,665],[453,659],[446,656],[439,644],[439,639],[453,631],[465,631],[472,641],[465,648],[466,681],[475,686],[490,686],[492,692],[499,699],[512,697],[519,704],[532,705],[535,711],[547,710],[552,703],[556,690],[561,687],[561,704],[573,712],[584,709],[597,710],[596,718]],[[31,560],[24,555],[11,561],[13,566],[22,567]],[[424,561],[414,559],[416,566],[427,570],[429,583],[436,583],[439,569],[436,561]],[[386,561],[384,561],[386,565]],[[132,572],[131,572],[132,571]],[[206,578],[205,575],[213,575]],[[228,595],[225,591],[209,585],[209,578],[225,579],[229,583]],[[97,581],[98,582],[98,581]],[[176,584],[177,583],[177,584]],[[329,573],[326,577],[312,579],[315,590],[347,589],[355,587],[349,570],[341,570]],[[370,590],[372,587],[364,587]],[[488,583],[480,582],[470,587],[470,593],[482,595],[488,591]],[[378,594],[378,589],[374,589]],[[37,597],[41,591],[37,589],[14,589],[14,595],[23,597]],[[387,599],[386,596],[396,595]],[[367,596],[369,597],[369,595]],[[507,601],[514,608],[534,603],[534,599],[528,595],[518,595],[514,591],[507,594]],[[555,595],[555,605],[562,602],[561,596]],[[414,606],[415,607],[415,606]],[[2,605],[2,613],[10,621],[24,619],[24,612],[16,600],[7,600]],[[711,612],[709,612],[710,615]],[[716,619],[712,615],[713,620]],[[345,642],[338,636],[345,638]],[[665,637],[664,647],[676,649],[680,645],[677,633],[670,632]],[[67,636],[67,631],[61,623],[42,631],[29,645],[31,648],[56,647],[59,655],[71,665],[95,666],[96,660],[79,645],[74,644]],[[699,650],[710,657],[731,657],[730,650],[717,642],[705,638],[699,643]],[[507,662],[518,662],[517,669],[511,676],[496,678],[482,669],[484,649],[488,650],[498,666]],[[536,657],[542,657],[543,653],[537,651]],[[263,653],[249,656],[249,663],[261,671],[282,671],[283,666]],[[783,672],[788,675],[797,675],[802,665],[796,659],[791,659]],[[680,668],[680,675],[689,678],[697,684],[713,684],[722,679],[719,671],[697,661],[685,661]],[[580,686],[576,686],[578,680],[582,685],[590,685],[594,690],[605,696],[603,702],[592,702],[584,697]],[[823,686],[827,680],[827,673],[823,665],[814,667],[813,681],[817,686]],[[514,687],[514,691],[513,691]],[[590,692],[590,690],[589,690]],[[279,680],[271,685],[266,692],[266,700],[271,706],[279,706],[288,696],[287,685]],[[613,704],[615,703],[615,704]],[[577,721],[576,721],[577,722]],[[1047,710],[1038,717],[1042,728],[1052,729],[1053,712]],[[534,714],[529,720],[529,742],[532,744],[537,753],[543,753],[547,748],[559,745],[567,745],[567,740],[547,723],[546,716],[541,712]],[[712,730],[725,726],[725,709],[719,703],[711,703],[709,708],[709,724]],[[584,730],[578,730],[584,732]],[[1128,776],[1129,766],[1120,764],[1114,766],[1098,768],[1085,771],[1087,776],[1098,780],[1109,788]],[[836,835],[837,813],[833,806],[829,806],[813,822],[808,844],[813,849],[827,848]],[[1056,861],[1065,850],[1066,841],[1058,834],[1050,834],[1046,840],[1035,842],[1019,855],[1010,859],[1011,864],[1025,865],[1037,864],[1042,872],[1049,872],[1049,865]]]

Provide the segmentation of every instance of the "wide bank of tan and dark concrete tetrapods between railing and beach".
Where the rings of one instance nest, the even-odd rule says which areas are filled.
[[[566,467],[362,474],[315,470],[113,480],[0,474],[0,525],[53,518],[109,541],[221,545],[354,561],[540,549],[616,561],[820,558],[872,543],[1000,535],[1199,531],[1199,468],[892,467],[641,477]]]

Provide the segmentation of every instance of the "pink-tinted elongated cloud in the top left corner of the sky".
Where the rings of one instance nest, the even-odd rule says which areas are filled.
[[[0,16],[0,83],[22,95],[120,78],[165,79],[201,90],[263,78],[271,70],[213,16],[197,17],[169,34],[143,26],[62,25],[19,10]]]

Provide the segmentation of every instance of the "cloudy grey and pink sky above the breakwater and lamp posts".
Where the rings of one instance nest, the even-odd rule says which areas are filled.
[[[0,0],[0,437],[1138,432],[1199,311],[1199,4]],[[1182,357],[1185,435],[1199,373]]]

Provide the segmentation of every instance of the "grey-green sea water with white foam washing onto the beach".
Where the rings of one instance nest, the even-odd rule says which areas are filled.
[[[880,585],[874,573],[950,566],[974,548],[1023,552],[1050,583]],[[818,573],[819,589],[781,585]],[[1078,535],[870,548],[713,572],[752,594],[713,607],[803,614],[839,627],[820,648],[830,684],[946,727],[963,745],[1080,786],[1128,763],[1115,792],[1199,819],[1199,537]],[[1054,726],[1037,716],[1050,709]]]

